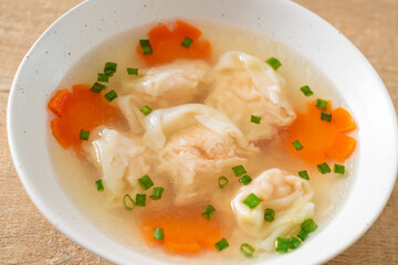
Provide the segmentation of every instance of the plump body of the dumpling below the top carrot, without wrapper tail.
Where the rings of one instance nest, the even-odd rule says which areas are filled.
[[[210,66],[201,60],[177,60],[142,72],[144,76],[133,78],[123,87],[140,107],[163,108],[191,103],[203,96],[212,81]]]

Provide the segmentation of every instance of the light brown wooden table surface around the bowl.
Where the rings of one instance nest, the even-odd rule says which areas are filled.
[[[7,102],[21,60],[56,18],[80,2],[0,0],[0,264],[107,264],[56,231],[34,206],[17,176],[6,137]],[[326,19],[365,54],[397,110],[398,0],[296,2]],[[371,229],[328,264],[398,264],[397,187]]]

